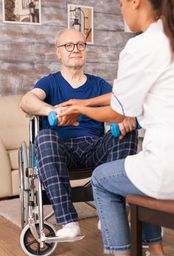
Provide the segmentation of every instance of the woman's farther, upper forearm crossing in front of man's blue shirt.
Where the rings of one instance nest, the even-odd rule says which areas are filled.
[[[110,105],[111,92],[108,94],[103,94],[98,97],[88,99],[88,107],[98,105],[98,106],[108,106]]]

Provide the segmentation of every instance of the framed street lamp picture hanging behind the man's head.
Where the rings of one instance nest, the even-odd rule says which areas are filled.
[[[68,4],[68,28],[77,29],[86,37],[88,44],[94,43],[94,8]]]

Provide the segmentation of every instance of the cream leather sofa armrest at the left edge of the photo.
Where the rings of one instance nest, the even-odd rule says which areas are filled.
[[[12,195],[12,173],[10,159],[0,138],[0,197]]]

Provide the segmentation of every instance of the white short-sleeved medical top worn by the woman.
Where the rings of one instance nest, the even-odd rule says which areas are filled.
[[[130,181],[146,195],[174,199],[174,61],[162,20],[126,43],[111,107],[145,129],[143,150],[125,160]]]

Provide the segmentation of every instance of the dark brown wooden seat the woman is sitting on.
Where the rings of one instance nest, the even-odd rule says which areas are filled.
[[[131,209],[131,255],[142,256],[142,222],[174,229],[174,200],[128,195]]]

